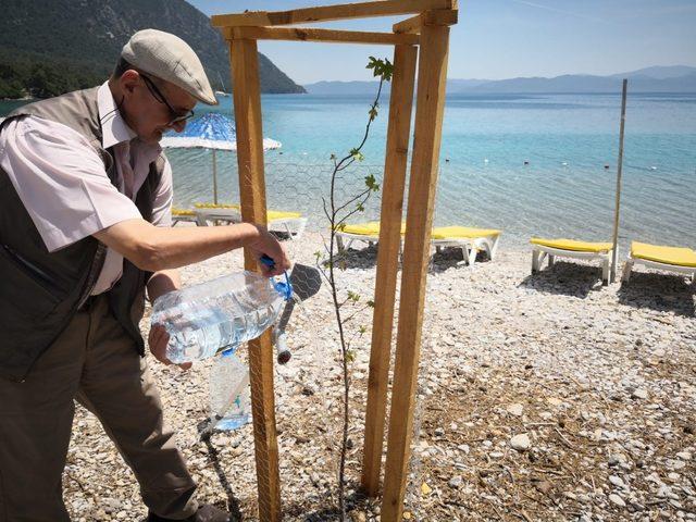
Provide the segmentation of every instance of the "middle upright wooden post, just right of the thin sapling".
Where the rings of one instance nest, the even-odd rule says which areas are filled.
[[[376,496],[380,490],[396,277],[401,246],[403,187],[417,59],[415,47],[396,46],[394,49],[361,478],[363,490],[371,497]]]

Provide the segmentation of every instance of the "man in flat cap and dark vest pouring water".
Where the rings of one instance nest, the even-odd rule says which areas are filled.
[[[171,228],[172,173],[158,145],[197,101],[215,104],[179,38],[136,33],[101,87],[25,105],[0,127],[0,521],[70,520],[61,476],[74,402],[133,469],[150,521],[217,522],[162,425],[138,328],[144,295],[176,268],[249,247],[289,268],[252,224]],[[149,347],[165,357],[166,333]]]

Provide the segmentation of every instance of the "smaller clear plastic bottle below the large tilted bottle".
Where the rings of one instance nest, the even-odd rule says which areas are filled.
[[[215,430],[237,430],[249,422],[249,369],[234,353],[223,351],[210,370],[210,421]]]

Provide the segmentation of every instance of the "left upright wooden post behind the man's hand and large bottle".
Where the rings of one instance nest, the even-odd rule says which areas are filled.
[[[237,126],[241,219],[246,222],[265,224],[263,132],[257,42],[256,40],[234,40],[229,46],[229,53]],[[245,249],[245,268],[258,270],[257,263],[252,253]],[[249,366],[259,519],[264,522],[275,522],[281,520],[281,487],[273,393],[273,346],[270,331],[258,339],[249,341]]]

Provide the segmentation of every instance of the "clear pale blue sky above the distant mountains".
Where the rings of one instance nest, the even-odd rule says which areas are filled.
[[[203,13],[285,11],[347,0],[187,0]],[[401,17],[312,24],[391,30]],[[259,41],[298,84],[370,79],[369,55],[389,46]],[[696,0],[459,0],[450,78],[608,75],[652,65],[696,66]]]

